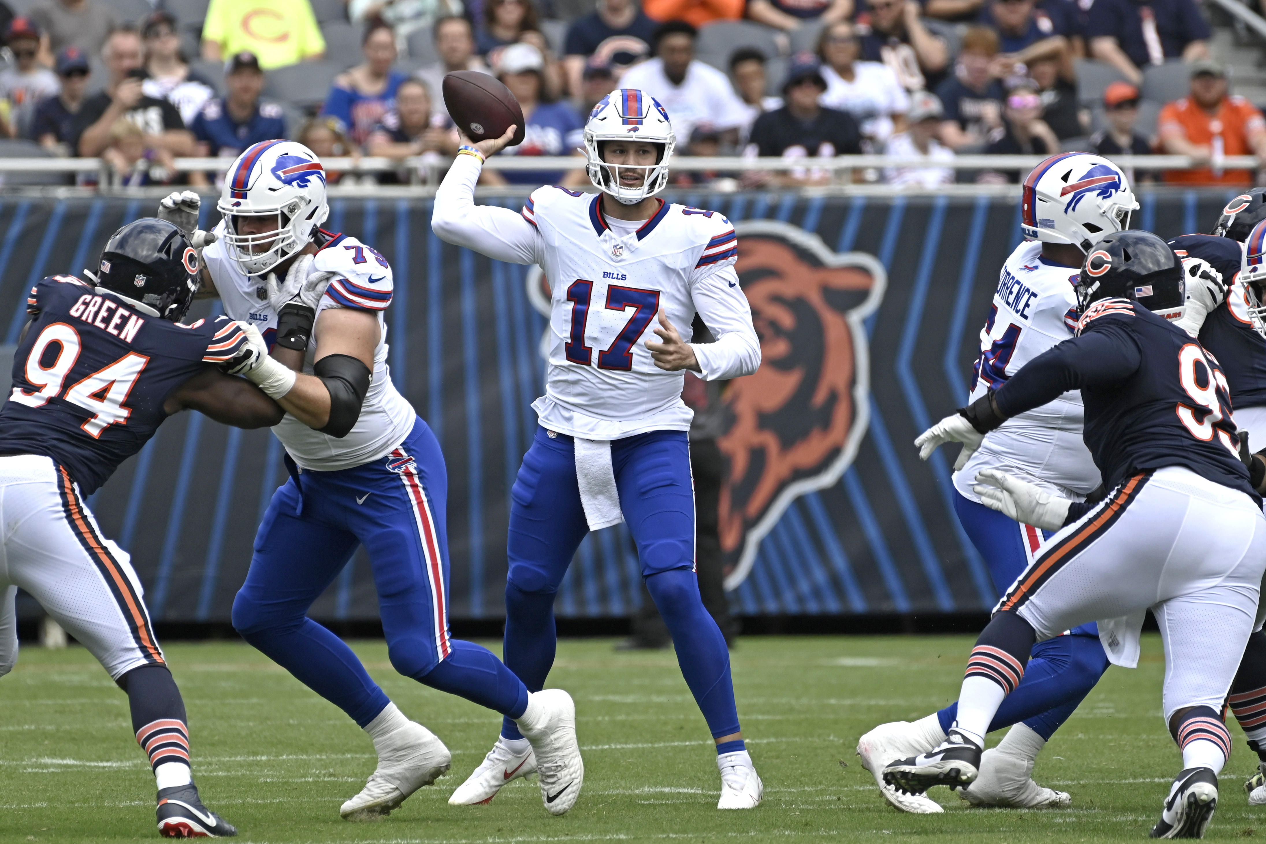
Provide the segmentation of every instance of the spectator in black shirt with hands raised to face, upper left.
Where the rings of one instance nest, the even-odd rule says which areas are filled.
[[[163,149],[172,156],[190,156],[194,135],[185,128],[180,111],[167,100],[146,96],[144,67],[141,65],[141,37],[133,29],[115,29],[101,48],[101,61],[110,75],[105,90],[89,97],[71,129],[71,148],[80,156],[100,156],[110,144],[110,132],[119,118],[141,128],[147,149]]]

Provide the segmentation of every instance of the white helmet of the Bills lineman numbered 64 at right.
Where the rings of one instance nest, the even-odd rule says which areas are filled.
[[[1066,152],[1051,156],[1024,180],[1020,230],[1028,240],[1090,247],[1129,228],[1138,209],[1120,167],[1101,156]]]

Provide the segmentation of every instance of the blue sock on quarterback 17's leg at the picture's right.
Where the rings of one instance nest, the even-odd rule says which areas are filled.
[[[651,574],[646,578],[646,587],[668,625],[681,676],[686,678],[713,738],[738,733],[729,648],[699,597],[698,576],[689,568],[675,568]]]

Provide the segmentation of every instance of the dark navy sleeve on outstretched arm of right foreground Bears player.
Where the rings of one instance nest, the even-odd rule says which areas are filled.
[[[1138,343],[1119,326],[1108,326],[1065,340],[1037,356],[994,394],[1004,416],[1055,401],[1069,390],[1108,386],[1138,369]]]

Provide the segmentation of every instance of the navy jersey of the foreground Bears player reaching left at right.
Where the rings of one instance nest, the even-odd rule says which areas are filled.
[[[1229,390],[1213,356],[1127,299],[1091,305],[1079,332],[1029,361],[994,394],[1004,415],[1081,390],[1082,437],[1104,487],[1181,466],[1261,505],[1239,461]]]

